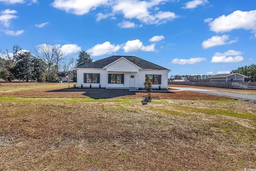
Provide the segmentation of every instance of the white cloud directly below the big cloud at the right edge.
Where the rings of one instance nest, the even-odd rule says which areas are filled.
[[[236,39],[229,40],[228,35],[213,36],[210,39],[203,41],[202,47],[204,49],[207,49],[207,48],[214,47],[214,46],[233,44],[234,42],[237,42],[237,40]]]

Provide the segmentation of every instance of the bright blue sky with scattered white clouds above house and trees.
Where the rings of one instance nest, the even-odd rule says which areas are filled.
[[[256,1],[0,0],[0,48],[58,44],[66,57],[135,55],[172,74],[256,63]]]

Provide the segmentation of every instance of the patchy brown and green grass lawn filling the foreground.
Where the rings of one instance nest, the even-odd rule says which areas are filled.
[[[179,92],[153,94],[158,98],[143,106],[140,94],[82,98],[88,92],[56,91],[64,84],[17,83],[15,92],[12,85],[0,85],[8,91],[0,93],[0,170],[256,166],[255,104]]]

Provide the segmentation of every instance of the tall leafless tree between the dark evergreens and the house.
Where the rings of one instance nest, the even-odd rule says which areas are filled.
[[[63,52],[58,45],[41,44],[35,49],[35,55],[42,59],[47,66],[47,80],[51,81],[51,69],[54,65],[59,66]],[[58,69],[57,69],[58,72]]]

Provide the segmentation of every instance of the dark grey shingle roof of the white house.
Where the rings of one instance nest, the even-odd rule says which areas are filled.
[[[144,59],[141,59],[137,56],[110,56],[107,58],[100,59],[98,61],[94,61],[90,64],[77,66],[77,68],[102,69],[103,67],[107,66],[108,64],[113,63],[114,61],[116,61],[117,59],[119,59],[121,57],[124,57],[128,61],[132,62],[133,64],[135,64],[145,70],[169,70],[169,69],[166,69],[165,67],[153,64],[153,63],[148,62]]]

